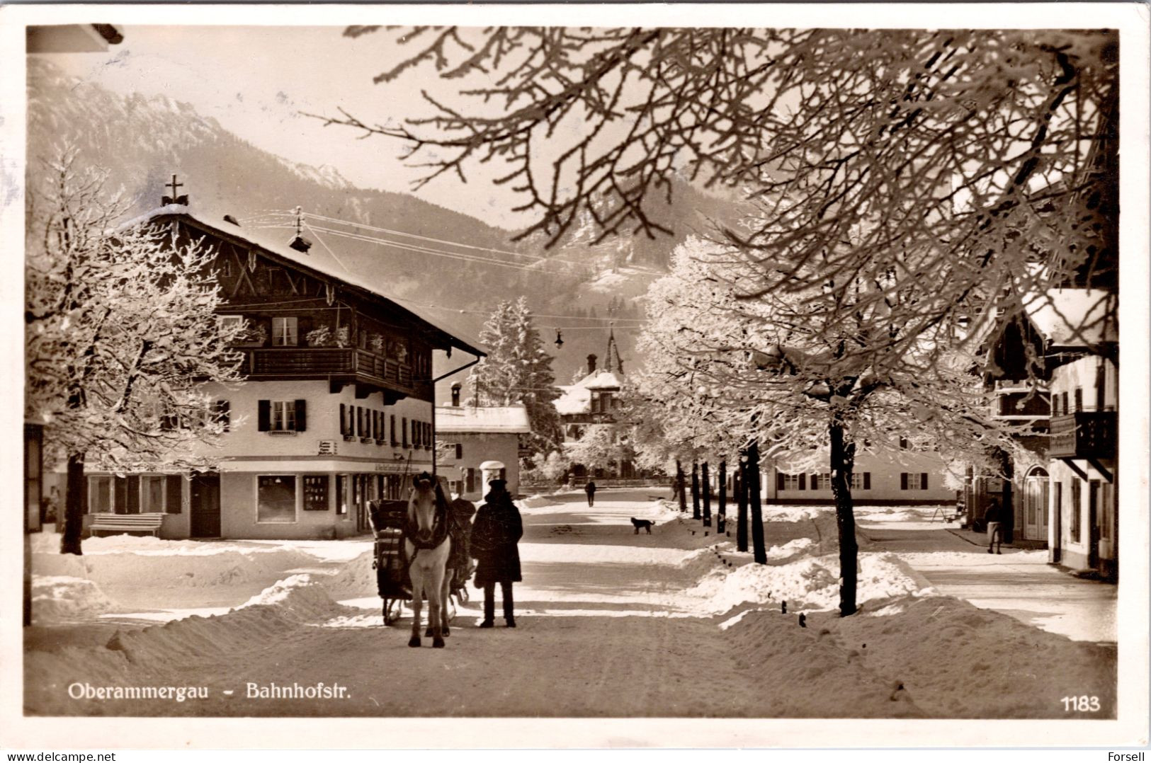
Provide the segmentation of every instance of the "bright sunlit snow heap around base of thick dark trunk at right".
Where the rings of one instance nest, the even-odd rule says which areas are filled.
[[[700,564],[694,555],[685,560]],[[786,564],[744,564],[711,569],[688,592],[712,612],[745,604],[787,602],[790,611],[832,610],[839,605],[839,558],[805,556]],[[860,603],[933,593],[922,577],[892,554],[861,554],[856,597]]]

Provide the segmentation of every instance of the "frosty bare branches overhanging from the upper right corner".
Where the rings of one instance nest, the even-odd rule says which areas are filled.
[[[963,316],[973,295],[1001,292],[1011,318],[1072,272],[1115,283],[1114,31],[345,33],[411,49],[376,83],[442,83],[426,91],[428,115],[399,125],[328,122],[401,139],[427,168],[421,183],[502,168],[536,214],[525,236],[559,241],[587,218],[601,238],[655,235],[681,176],[770,207],[726,231],[756,255],[761,292],[849,277],[895,250],[946,264],[930,268],[944,277],[917,303],[921,327]]]

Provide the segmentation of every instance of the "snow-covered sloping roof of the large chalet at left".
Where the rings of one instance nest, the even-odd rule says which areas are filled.
[[[197,227],[204,228],[214,235],[253,244],[276,258],[288,260],[292,265],[299,266],[304,270],[313,270],[328,276],[329,279],[343,281],[344,283],[363,289],[371,295],[387,299],[388,302],[395,304],[395,306],[399,310],[411,313],[419,320],[443,333],[449,338],[452,346],[459,348],[465,352],[471,352],[472,354],[487,354],[483,345],[470,337],[466,331],[462,331],[458,328],[450,326],[448,321],[444,321],[441,318],[433,318],[419,307],[399,304],[396,297],[384,293],[383,289],[379,285],[369,283],[356,273],[345,268],[338,258],[322,244],[320,246],[312,246],[307,252],[300,252],[289,246],[288,241],[273,239],[267,234],[253,231],[249,228],[242,228],[236,223],[224,220],[223,215],[209,216],[204,213],[192,212],[188,205],[183,204],[169,204],[162,207],[157,207],[151,212],[146,212],[138,218],[129,220],[122,227],[131,228],[135,226],[146,224],[157,218],[167,215],[176,215],[191,220]]]

